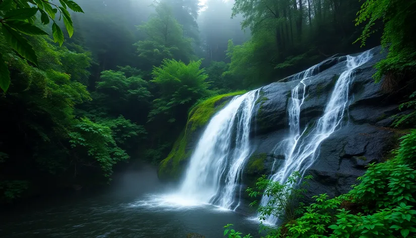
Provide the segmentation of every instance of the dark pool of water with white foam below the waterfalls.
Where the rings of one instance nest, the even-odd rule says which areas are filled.
[[[234,211],[159,201],[169,186],[159,183],[156,168],[140,167],[119,174],[105,191],[37,199],[2,212],[0,237],[185,238],[196,232],[214,238],[224,237],[227,223],[257,233],[256,222]]]

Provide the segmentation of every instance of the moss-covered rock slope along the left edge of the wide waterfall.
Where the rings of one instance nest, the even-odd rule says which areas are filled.
[[[161,180],[178,180],[180,178],[192,155],[193,146],[196,145],[196,140],[199,139],[201,130],[206,123],[231,100],[232,96],[245,92],[238,91],[217,95],[201,101],[190,109],[185,129],[174,143],[168,157],[159,164],[158,176]]]

